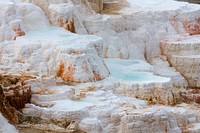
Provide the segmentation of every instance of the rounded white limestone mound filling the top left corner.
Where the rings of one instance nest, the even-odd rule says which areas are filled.
[[[0,42],[49,27],[43,11],[33,4],[8,0],[1,1],[0,7]]]

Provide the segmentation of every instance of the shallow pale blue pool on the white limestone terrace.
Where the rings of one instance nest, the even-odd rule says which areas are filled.
[[[141,63],[138,60],[106,59],[111,78],[133,83],[166,82],[168,78],[156,76],[151,72],[133,71],[131,68]]]

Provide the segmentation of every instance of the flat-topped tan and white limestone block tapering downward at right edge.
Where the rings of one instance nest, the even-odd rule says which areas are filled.
[[[200,36],[170,36],[161,44],[164,55],[188,81],[189,86],[198,88]]]

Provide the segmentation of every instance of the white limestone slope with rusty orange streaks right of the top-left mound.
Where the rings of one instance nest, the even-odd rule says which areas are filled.
[[[20,0],[39,6],[53,26],[63,27],[78,34],[87,34],[83,21],[93,15],[87,0]]]

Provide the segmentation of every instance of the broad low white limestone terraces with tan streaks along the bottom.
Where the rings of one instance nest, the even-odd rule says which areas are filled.
[[[105,89],[105,81],[57,85],[38,89],[32,84],[32,104],[23,109],[27,121],[20,127],[88,133],[198,131],[191,125],[198,126],[199,108],[189,104],[149,105],[122,93],[113,94]]]

